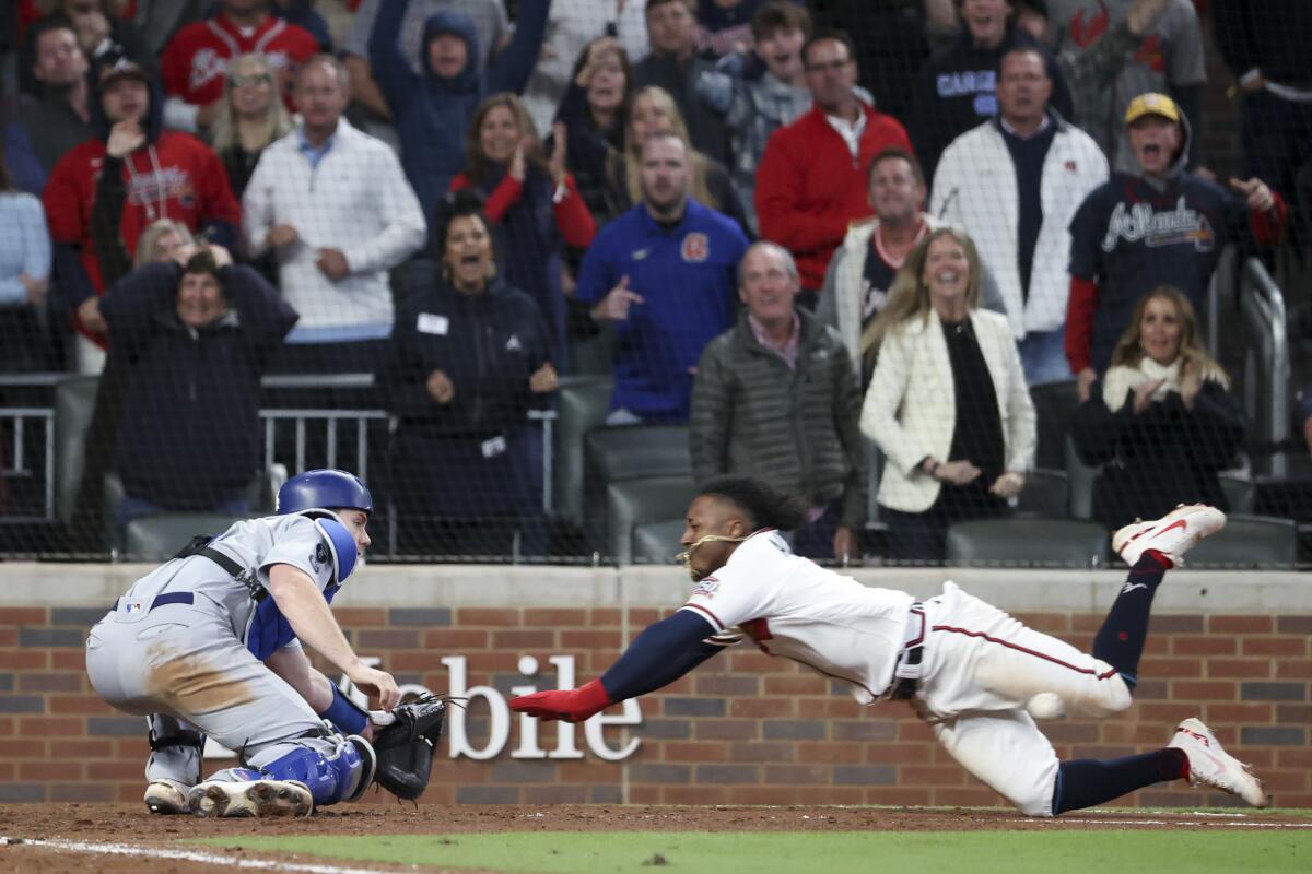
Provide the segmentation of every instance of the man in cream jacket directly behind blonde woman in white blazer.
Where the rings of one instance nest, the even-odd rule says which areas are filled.
[[[869,342],[867,330],[888,305],[893,278],[907,256],[943,223],[928,212],[925,177],[916,156],[896,145],[870,161],[866,182],[875,215],[854,221],[838,246],[824,276],[824,291],[816,316],[838,330],[848,359],[859,371],[862,388],[875,368],[878,347]],[[981,266],[980,300],[987,309],[1004,313],[997,283]]]

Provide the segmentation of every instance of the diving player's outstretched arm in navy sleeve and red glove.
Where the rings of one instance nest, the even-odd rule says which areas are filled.
[[[691,611],[678,611],[648,625],[600,680],[577,689],[535,692],[510,698],[510,709],[539,719],[583,722],[611,704],[655,692],[684,676],[722,649],[715,629]]]

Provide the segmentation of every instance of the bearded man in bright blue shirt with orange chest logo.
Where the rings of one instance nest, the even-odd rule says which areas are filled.
[[[577,296],[618,334],[610,425],[687,421],[702,349],[732,324],[747,237],[689,195],[691,173],[682,138],[647,138],[642,203],[605,225],[584,257]]]

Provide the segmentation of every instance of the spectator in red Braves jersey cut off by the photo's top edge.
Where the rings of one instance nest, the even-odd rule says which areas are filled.
[[[264,56],[290,109],[293,73],[319,51],[308,31],[269,14],[269,0],[220,0],[220,5],[215,17],[178,30],[160,59],[171,127],[197,131],[214,123],[228,64],[240,55]]]

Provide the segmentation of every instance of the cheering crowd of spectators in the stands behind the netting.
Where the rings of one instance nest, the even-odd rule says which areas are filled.
[[[1050,384],[1098,522],[1225,507],[1246,421],[1203,314],[1227,245],[1296,224],[1300,0],[14,5],[0,373],[101,376],[119,525],[249,508],[268,373],[373,375],[416,531],[527,554],[526,417],[597,370],[607,426],[806,498],[817,558],[859,558],[871,491],[892,558],[1013,512]]]

